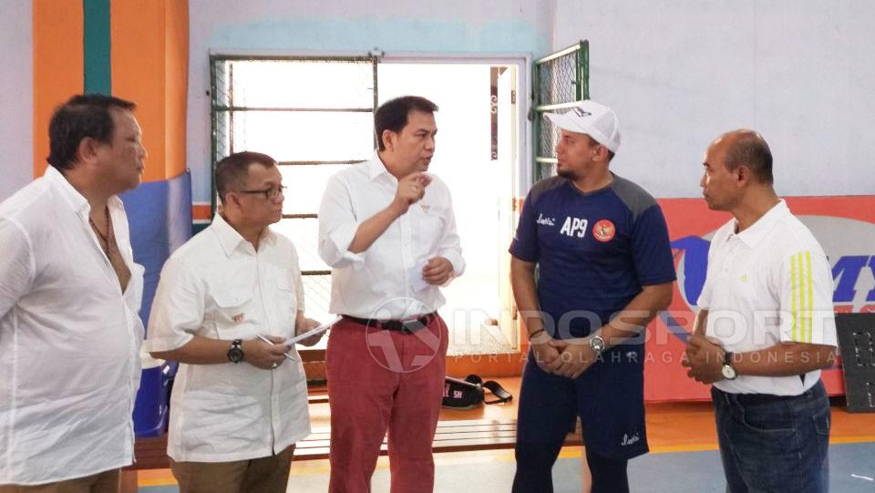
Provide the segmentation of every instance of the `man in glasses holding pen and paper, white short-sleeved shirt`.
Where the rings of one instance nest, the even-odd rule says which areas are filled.
[[[181,364],[167,447],[181,493],[284,492],[294,444],[310,433],[304,366],[282,343],[318,323],[304,317],[292,241],[270,228],[282,180],[265,154],[222,159],[221,213],[161,272],[146,346]]]

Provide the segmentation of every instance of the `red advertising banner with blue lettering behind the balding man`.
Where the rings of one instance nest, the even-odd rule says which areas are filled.
[[[786,200],[829,257],[836,312],[875,312],[875,196]],[[648,401],[707,400],[710,386],[688,378],[681,359],[705,283],[710,239],[732,216],[710,211],[703,199],[659,203],[668,222],[677,284],[669,310],[648,326],[644,397]],[[840,360],[823,371],[823,381],[829,395],[844,394]]]

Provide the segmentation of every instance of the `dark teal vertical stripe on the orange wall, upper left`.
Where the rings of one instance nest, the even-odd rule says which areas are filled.
[[[110,0],[82,0],[85,92],[112,94]]]

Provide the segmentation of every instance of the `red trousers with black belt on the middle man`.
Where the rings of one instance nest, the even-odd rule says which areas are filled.
[[[404,334],[342,320],[326,353],[330,493],[366,493],[388,431],[392,493],[431,493],[448,332],[436,315]]]

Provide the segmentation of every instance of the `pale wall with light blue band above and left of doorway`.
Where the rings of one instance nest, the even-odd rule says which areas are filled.
[[[209,53],[520,54],[550,49],[555,0],[189,0],[188,163],[210,201]]]

